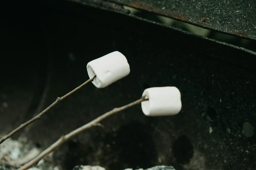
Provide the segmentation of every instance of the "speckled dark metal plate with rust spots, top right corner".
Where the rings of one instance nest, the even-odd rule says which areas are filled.
[[[256,40],[255,0],[110,0],[203,28]]]

